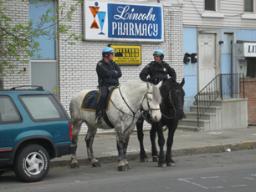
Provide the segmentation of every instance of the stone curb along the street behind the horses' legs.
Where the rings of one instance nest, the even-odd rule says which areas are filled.
[[[248,149],[256,149],[256,142],[254,141],[243,141],[238,144],[220,144],[215,146],[205,146],[205,147],[197,147],[197,148],[187,148],[187,149],[174,149],[172,150],[172,157],[177,156],[192,156],[195,154],[215,154],[215,153],[223,153],[226,152],[226,149],[231,149],[231,151],[242,151]],[[148,157],[151,157],[151,153],[146,153]],[[140,154],[127,154],[127,159],[129,161],[140,161]],[[109,164],[118,162],[118,156],[102,156],[97,157],[100,161],[100,164]],[[79,165],[88,165],[90,164],[89,159],[78,159]],[[69,167],[70,160],[54,160],[51,162],[50,168],[57,167]]]

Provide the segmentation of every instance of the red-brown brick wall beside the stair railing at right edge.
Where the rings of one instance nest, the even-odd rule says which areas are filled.
[[[240,81],[242,83],[242,81]],[[243,86],[240,86],[243,88]],[[241,91],[243,93],[243,90]],[[256,124],[256,78],[244,79],[244,97],[248,98],[248,125]],[[243,95],[240,94],[240,98]]]

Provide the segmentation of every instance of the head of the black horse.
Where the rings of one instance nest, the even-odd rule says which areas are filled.
[[[167,79],[165,83],[162,83],[160,91],[162,97],[162,103],[165,106],[164,109],[168,109],[172,112],[175,119],[182,119],[184,114],[184,96],[183,85],[185,79],[182,79],[182,83],[177,83],[171,78]]]

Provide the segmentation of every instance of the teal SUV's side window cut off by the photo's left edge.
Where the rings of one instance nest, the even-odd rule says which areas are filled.
[[[8,96],[0,96],[0,124],[20,121],[21,117],[12,99]]]

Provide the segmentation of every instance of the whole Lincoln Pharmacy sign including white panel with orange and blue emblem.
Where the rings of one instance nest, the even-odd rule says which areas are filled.
[[[86,40],[164,40],[161,6],[85,1],[84,18]]]

